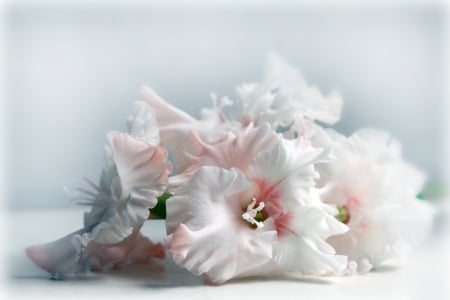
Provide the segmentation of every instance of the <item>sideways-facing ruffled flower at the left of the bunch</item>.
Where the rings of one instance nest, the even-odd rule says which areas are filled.
[[[89,232],[95,238],[88,240],[102,244],[122,241],[148,219],[149,208],[167,187],[171,170],[167,151],[159,145],[148,145],[120,132],[108,134],[108,140],[115,166],[102,174],[101,182],[108,188],[94,187],[97,194],[85,203],[92,206],[85,214],[85,226],[96,224]]]

